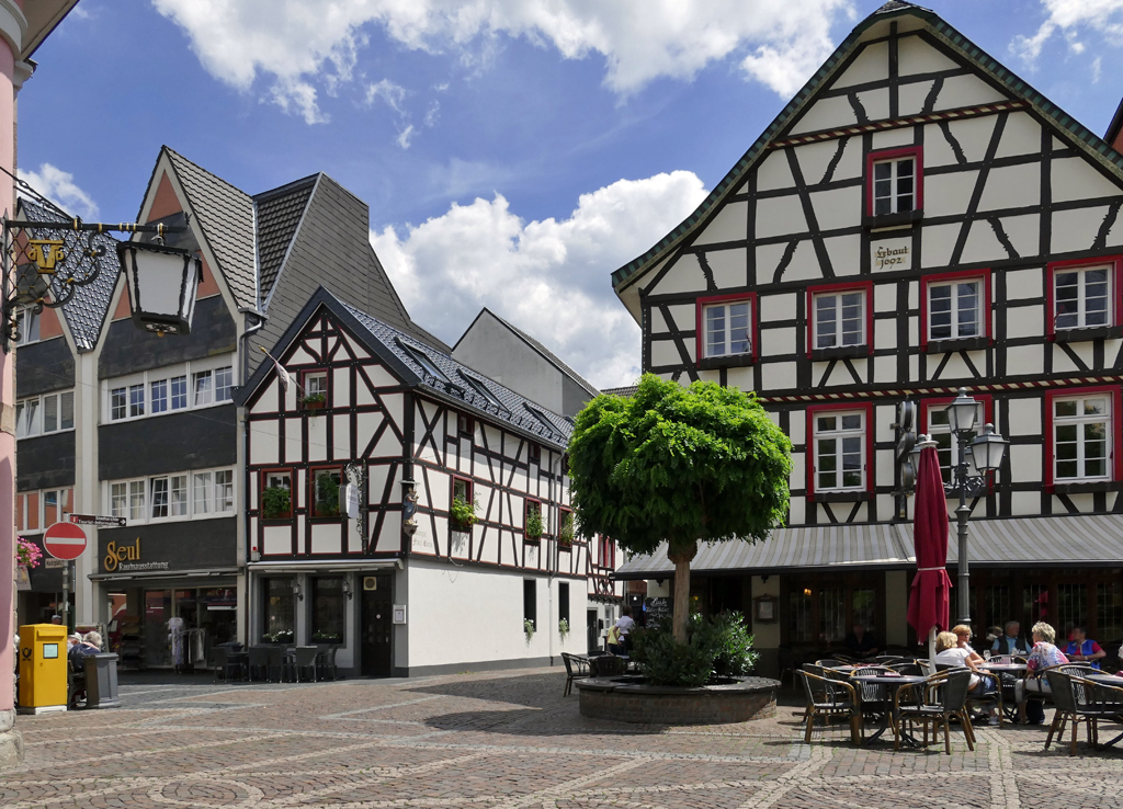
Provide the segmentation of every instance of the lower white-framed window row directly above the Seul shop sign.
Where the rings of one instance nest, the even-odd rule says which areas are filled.
[[[109,484],[109,513],[130,522],[234,512],[234,470],[154,475]]]

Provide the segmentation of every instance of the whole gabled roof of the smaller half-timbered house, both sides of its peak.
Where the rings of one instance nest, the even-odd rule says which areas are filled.
[[[478,413],[489,421],[504,424],[513,432],[522,433],[555,449],[564,449],[568,444],[573,425],[564,416],[540,407],[494,379],[457,362],[447,350],[422,342],[344,303],[322,286],[293,320],[271,353],[279,359],[283,358],[321,306],[327,307],[348,327],[363,346],[392,368],[409,387],[424,389],[437,398],[451,402],[460,410]],[[430,373],[423,362],[431,364],[439,376]],[[275,373],[272,362],[262,362],[249,381],[238,390],[236,398],[238,404],[244,405]],[[490,396],[482,395],[477,386],[483,386]],[[494,399],[499,405],[489,399]],[[540,413],[545,421],[529,411],[528,406]]]

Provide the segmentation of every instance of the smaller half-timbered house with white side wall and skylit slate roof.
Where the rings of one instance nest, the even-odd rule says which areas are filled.
[[[368,675],[585,651],[619,597],[573,535],[569,420],[326,289],[272,356],[239,394],[253,640]]]

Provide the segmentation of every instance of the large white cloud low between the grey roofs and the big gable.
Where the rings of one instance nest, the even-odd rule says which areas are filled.
[[[410,314],[455,342],[481,307],[541,340],[594,385],[639,376],[639,327],[612,292],[612,270],[647,250],[705,197],[692,172],[621,180],[583,194],[562,221],[527,222],[501,194],[371,243]]]

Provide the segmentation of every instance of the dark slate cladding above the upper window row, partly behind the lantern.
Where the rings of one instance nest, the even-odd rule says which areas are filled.
[[[237,328],[221,295],[195,304],[191,333],[156,337],[137,329],[131,320],[109,324],[106,347],[98,360],[98,378],[152,370],[190,359],[202,359],[237,349]]]

